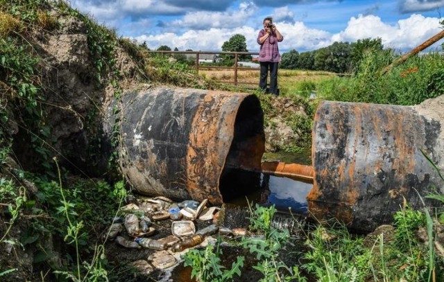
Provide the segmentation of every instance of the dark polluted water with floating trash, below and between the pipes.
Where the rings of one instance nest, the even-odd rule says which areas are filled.
[[[245,171],[239,174],[232,171],[225,176],[230,176],[221,179],[220,184],[225,204],[274,205],[278,213],[275,213],[271,226],[276,229],[289,229],[293,238],[297,238],[294,235],[304,228],[302,227],[304,220],[296,220],[293,213],[298,215],[307,213],[305,197],[312,187],[311,183],[263,173],[250,174]],[[235,187],[237,192],[242,191],[244,195],[230,197],[232,187]],[[191,279],[190,267],[183,265],[182,256],[187,249],[205,247],[208,240],[214,243],[218,236],[238,239],[249,236],[248,229],[245,228],[248,224],[219,226],[216,218],[220,207],[210,206],[207,200],[174,202],[164,197],[137,197],[132,202],[123,206],[123,215],[112,226],[110,240],[114,240],[117,245],[133,254],[143,252],[143,255],[140,253],[141,255],[134,257],[138,259],[136,265],[140,265],[137,268],[145,274],[155,275],[155,281],[194,281]],[[248,215],[243,218],[248,218]],[[155,231],[149,231],[151,229]],[[222,261],[230,261],[234,259],[231,256],[241,252],[227,245],[221,248]],[[254,260],[249,263],[253,264],[248,268],[253,269]],[[156,273],[152,273],[156,270]],[[243,274],[242,279],[254,281],[248,280],[251,277],[259,279],[250,273]]]

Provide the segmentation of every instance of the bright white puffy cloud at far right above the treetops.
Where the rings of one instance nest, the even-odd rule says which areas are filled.
[[[384,24],[379,17],[359,15],[348,21],[341,33],[332,36],[332,42],[355,42],[357,39],[382,38],[382,44],[398,50],[412,49],[429,39],[440,30],[438,18],[411,15],[398,24]]]

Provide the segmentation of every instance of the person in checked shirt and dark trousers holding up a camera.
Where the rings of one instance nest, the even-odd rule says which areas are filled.
[[[260,45],[259,64],[260,78],[259,88],[266,92],[266,82],[268,71],[270,71],[270,89],[269,93],[278,95],[278,65],[280,62],[280,53],[278,42],[282,42],[284,37],[273,24],[272,17],[266,17],[263,21],[264,29],[257,35],[257,44]]]

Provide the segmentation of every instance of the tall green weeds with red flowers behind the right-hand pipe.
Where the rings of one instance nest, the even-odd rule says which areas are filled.
[[[444,93],[444,55],[426,53],[383,73],[393,53],[366,53],[350,78],[332,78],[317,85],[318,97],[345,102],[417,105]]]

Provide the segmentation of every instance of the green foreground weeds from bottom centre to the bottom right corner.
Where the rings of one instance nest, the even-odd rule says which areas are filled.
[[[442,281],[444,279],[444,254],[436,255],[434,223],[428,211],[413,211],[404,206],[395,213],[393,231],[375,233],[364,237],[352,235],[348,229],[336,222],[331,226],[317,225],[306,233],[305,248],[300,249],[300,264],[288,266],[282,261],[282,250],[291,245],[287,229],[274,229],[271,220],[275,213],[273,206],[256,206],[250,218],[249,231],[254,236],[246,236],[238,247],[249,249],[257,260],[253,266],[263,275],[259,281]],[[426,220],[426,218],[429,220]],[[427,230],[429,243],[418,242],[414,234]],[[300,230],[304,233],[303,230]],[[219,244],[217,245],[219,247]],[[219,281],[204,279],[216,277],[221,252],[213,252],[209,245],[205,249],[192,250],[185,254],[186,265],[199,281]],[[233,263],[237,272],[242,271],[239,260]],[[248,259],[248,258],[247,258]],[[190,263],[191,261],[198,263]],[[203,274],[205,276],[198,276]],[[235,281],[228,279],[223,281]]]

